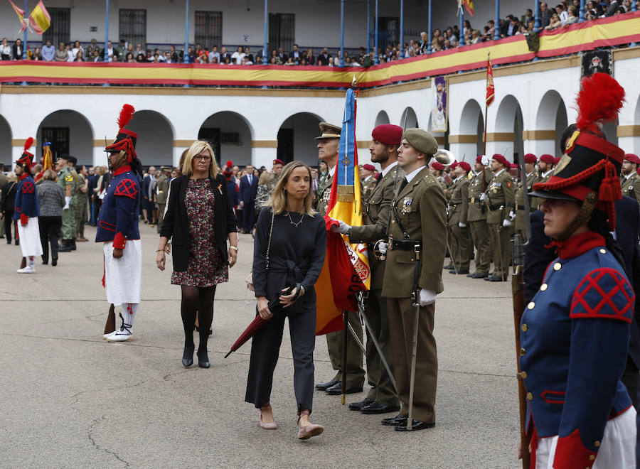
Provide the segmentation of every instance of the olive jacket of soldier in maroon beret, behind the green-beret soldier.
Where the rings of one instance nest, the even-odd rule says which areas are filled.
[[[371,289],[381,290],[385,276],[385,261],[380,261],[373,257],[373,245],[378,239],[388,237],[388,223],[391,211],[391,201],[393,200],[393,189],[395,185],[395,173],[398,173],[398,186],[405,177],[405,172],[396,165],[385,174],[378,184],[375,185],[367,204],[363,225],[351,227],[349,241],[353,243],[366,242],[369,247],[369,266],[371,267]]]

